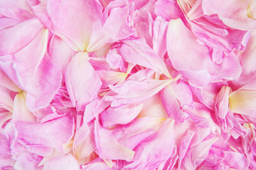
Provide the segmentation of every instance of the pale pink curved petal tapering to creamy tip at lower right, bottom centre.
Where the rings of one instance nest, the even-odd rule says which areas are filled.
[[[134,152],[116,141],[111,131],[95,122],[96,149],[101,159],[133,159]]]

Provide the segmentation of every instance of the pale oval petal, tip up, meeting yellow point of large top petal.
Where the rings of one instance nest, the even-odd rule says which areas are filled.
[[[101,87],[101,79],[89,63],[87,52],[74,55],[67,66],[65,81],[70,100],[73,106],[77,106],[77,111],[84,111]]]

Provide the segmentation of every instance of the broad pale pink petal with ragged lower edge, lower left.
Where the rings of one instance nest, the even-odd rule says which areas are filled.
[[[18,132],[17,141],[26,146],[29,152],[48,156],[52,149],[63,151],[63,145],[73,135],[73,119],[64,115],[45,123],[17,122],[15,128]]]

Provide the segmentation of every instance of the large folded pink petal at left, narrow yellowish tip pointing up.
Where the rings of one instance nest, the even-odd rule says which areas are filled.
[[[14,55],[13,68],[22,89],[28,93],[27,105],[31,111],[48,106],[62,80],[60,69],[48,57],[47,45],[48,30],[42,30],[29,45]]]

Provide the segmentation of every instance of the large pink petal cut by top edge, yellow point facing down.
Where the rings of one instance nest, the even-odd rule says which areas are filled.
[[[93,28],[96,24],[101,26],[102,6],[95,0],[48,0],[47,8],[52,23],[71,38],[79,50],[86,50]]]

